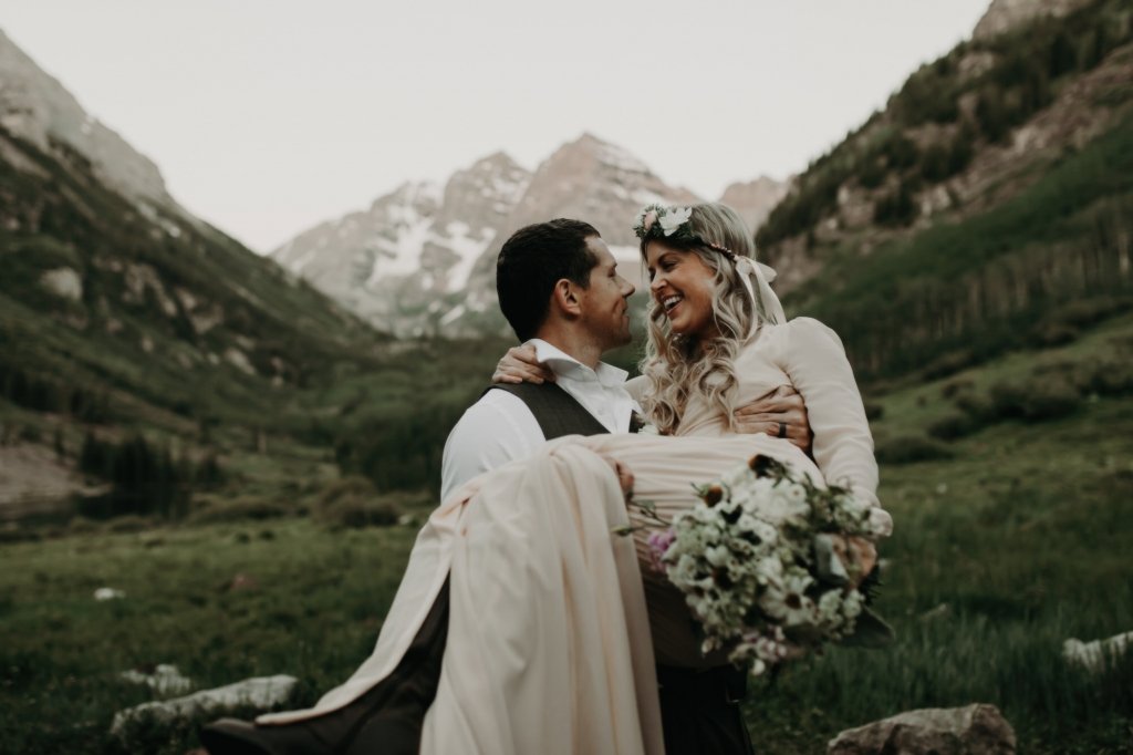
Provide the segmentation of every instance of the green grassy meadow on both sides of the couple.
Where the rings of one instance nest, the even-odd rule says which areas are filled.
[[[1107,364],[1131,336],[1133,316],[1122,316],[1059,349],[871,396],[878,447],[927,438],[957,396]],[[1084,393],[1054,418],[989,421],[934,442],[947,458],[881,467],[896,531],[878,609],[897,642],[757,680],[757,750],[823,752],[844,728],[981,702],[1012,722],[1020,752],[1133,752],[1133,656],[1091,676],[1060,655],[1068,637],[1133,629],[1133,397]],[[151,698],[119,673],[157,663],[198,688],[290,673],[301,684],[289,705],[312,703],[369,653],[415,533],[293,516],[111,520],[0,545],[0,748],[191,749],[190,724],[108,733],[116,711]],[[103,586],[126,597],[96,602]]]

